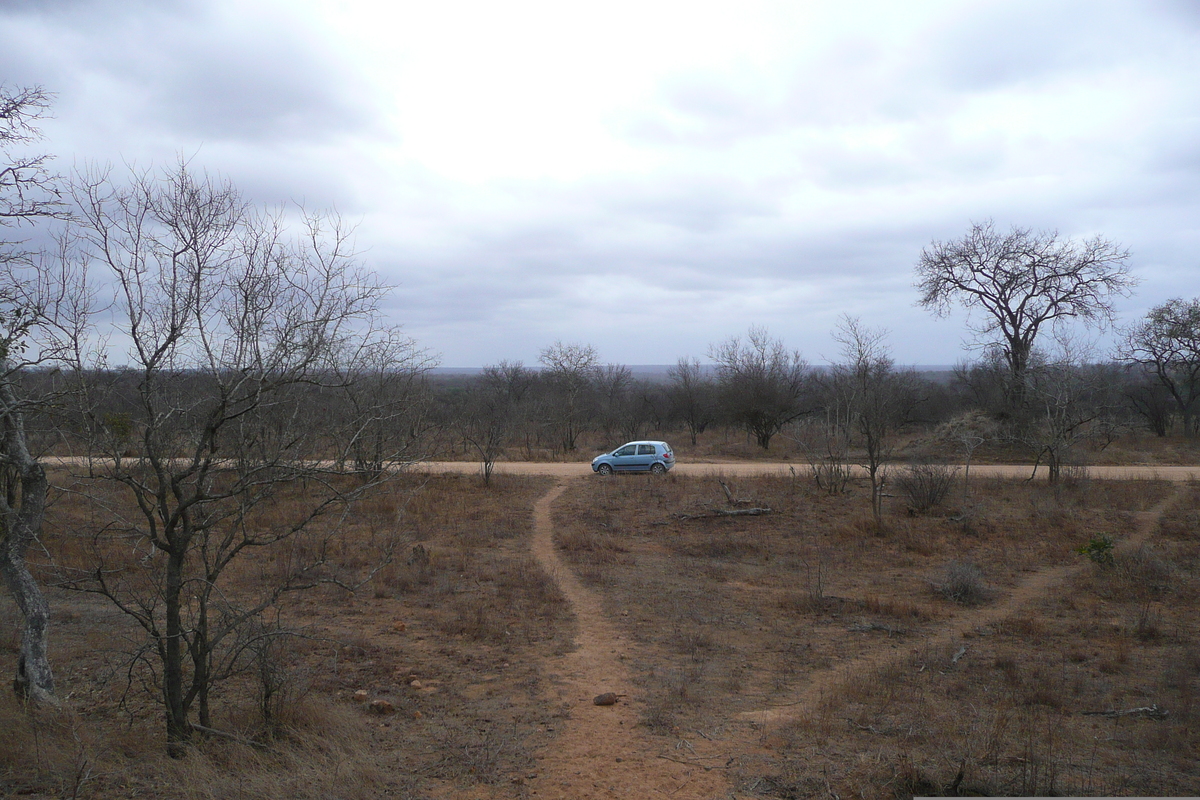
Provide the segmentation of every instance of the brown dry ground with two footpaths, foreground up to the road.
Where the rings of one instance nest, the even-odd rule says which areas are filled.
[[[4,700],[13,735],[0,787],[414,800],[1200,794],[1194,468],[1092,467],[1052,487],[1012,480],[1027,467],[973,465],[968,498],[960,482],[928,515],[893,498],[882,531],[860,485],[818,492],[798,464],[583,480],[587,464],[499,463],[491,487],[478,470],[445,462],[402,477],[360,510],[356,534],[367,545],[398,530],[394,564],[356,595],[286,604],[305,638],[284,658],[289,727],[275,754],[206,740],[184,762],[162,757],[154,705],[122,678],[139,675],[122,655],[134,631],[97,600],[55,593],[54,658],[74,710],[38,728]],[[719,513],[745,507],[772,511]],[[70,519],[71,506],[55,513]],[[1111,565],[1075,552],[1100,535],[1117,543]],[[271,558],[245,579],[269,575]],[[954,565],[977,569],[962,602],[940,594]],[[2,650],[11,669],[11,636]],[[221,727],[257,735],[253,678],[236,686]],[[594,705],[604,692],[619,702]]]

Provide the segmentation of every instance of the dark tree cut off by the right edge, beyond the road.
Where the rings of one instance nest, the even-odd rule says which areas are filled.
[[[1200,403],[1200,297],[1154,306],[1126,331],[1121,357],[1145,367],[1170,393],[1183,434],[1196,433]]]

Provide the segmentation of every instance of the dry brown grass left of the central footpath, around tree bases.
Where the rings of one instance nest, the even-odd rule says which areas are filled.
[[[0,694],[10,732],[0,738],[2,793],[426,798],[488,784],[506,796],[509,776],[528,770],[532,753],[553,739],[558,711],[542,703],[541,669],[571,636],[557,585],[528,552],[533,503],[547,486],[403,476],[365,498],[330,548],[329,569],[361,575],[385,542],[391,563],[354,593],[328,587],[286,597],[280,614],[290,634],[264,654],[270,669],[234,678],[214,698],[217,728],[265,748],[197,736],[190,756],[167,758],[152,675],[144,663],[131,668],[140,631],[98,597],[52,591],[52,657],[72,711],[30,715]],[[85,563],[96,547],[130,559],[125,540],[58,533],[94,530],[120,507],[115,493],[104,499],[107,509],[59,498],[46,537],[59,564]],[[263,509],[256,524],[286,522],[281,505]],[[257,591],[289,558],[302,554],[251,555],[230,573],[229,590]],[[0,614],[0,663],[11,673],[17,614],[7,600]],[[270,726],[264,674],[277,684]],[[389,705],[372,712],[371,700]]]

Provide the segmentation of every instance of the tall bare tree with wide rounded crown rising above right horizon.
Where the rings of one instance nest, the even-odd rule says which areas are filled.
[[[1001,234],[988,221],[972,223],[960,240],[935,240],[923,249],[917,289],[920,305],[940,317],[954,303],[979,312],[972,320],[976,343],[1001,351],[1009,403],[1021,408],[1038,333],[1068,318],[1111,323],[1114,295],[1135,285],[1128,260],[1129,251],[1102,236],[1076,242],[1015,227]]]

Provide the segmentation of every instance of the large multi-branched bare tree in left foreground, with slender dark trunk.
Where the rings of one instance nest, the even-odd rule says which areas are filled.
[[[76,359],[82,435],[98,457],[95,479],[136,510],[95,531],[74,585],[145,631],[140,657],[179,754],[197,724],[211,728],[212,688],[245,667],[246,632],[264,612],[286,593],[348,579],[330,543],[386,473],[338,474],[311,410],[380,363],[413,368],[412,350],[382,323],[388,288],[358,264],[336,218],[304,215],[292,237],[282,213],[254,211],[182,163],[126,185],[80,174],[73,191],[85,254],[115,293],[115,341],[128,344],[120,381],[90,380]],[[96,413],[106,386],[128,393],[128,453]],[[368,417],[377,411],[370,404]],[[269,579],[256,591],[230,585],[230,566],[265,551],[278,554]]]

